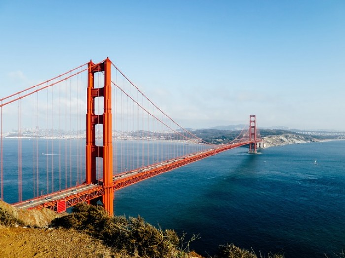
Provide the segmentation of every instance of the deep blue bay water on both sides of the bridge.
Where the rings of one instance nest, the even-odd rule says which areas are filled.
[[[54,172],[58,177],[54,166],[59,159],[66,163],[65,152],[42,154],[58,153],[59,147],[77,154],[67,160],[75,168],[72,177],[60,168],[62,179],[67,178],[67,184],[82,180],[82,141],[38,143],[37,154],[44,158],[39,159],[42,174],[36,190],[46,189],[45,175]],[[17,143],[4,139],[3,144],[4,201],[11,203],[18,199]],[[23,184],[29,186],[23,187],[23,199],[31,198],[34,190],[32,146],[23,139]],[[139,214],[162,229],[186,232],[186,238],[199,234],[191,249],[202,255],[214,255],[225,243],[262,254],[281,252],[286,258],[334,257],[345,249],[345,141],[271,147],[258,155],[247,151],[233,149],[121,189],[115,192],[115,214]]]

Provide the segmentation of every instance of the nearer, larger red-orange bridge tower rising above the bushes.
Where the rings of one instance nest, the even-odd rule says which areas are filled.
[[[104,87],[94,87],[94,75],[104,72]],[[104,113],[95,114],[95,99],[104,98]],[[101,100],[102,101],[102,100]],[[96,125],[103,125],[103,146],[96,145]],[[113,176],[113,146],[112,146],[112,114],[111,114],[111,62],[107,58],[103,63],[88,63],[87,113],[86,113],[86,183],[97,183],[96,158],[103,159],[103,189],[102,203],[104,209],[113,215],[114,189]],[[96,204],[98,200],[89,201]]]

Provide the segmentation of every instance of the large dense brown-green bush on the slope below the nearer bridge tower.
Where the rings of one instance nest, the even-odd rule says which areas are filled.
[[[109,217],[102,207],[78,204],[71,214],[57,218],[52,226],[76,229],[92,235],[119,251],[141,257],[165,258],[181,256],[175,231],[161,230],[143,218]]]

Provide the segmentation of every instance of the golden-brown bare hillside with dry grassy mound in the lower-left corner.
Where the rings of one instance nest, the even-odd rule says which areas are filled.
[[[0,200],[0,257],[115,257],[109,247],[89,235],[48,228],[60,216],[48,209],[17,209]]]

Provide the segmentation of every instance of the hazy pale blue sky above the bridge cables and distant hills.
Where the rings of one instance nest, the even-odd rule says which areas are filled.
[[[109,57],[183,127],[345,131],[344,0],[1,0],[0,34],[0,98]]]

